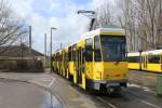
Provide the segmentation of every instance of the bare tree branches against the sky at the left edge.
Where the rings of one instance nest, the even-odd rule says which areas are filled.
[[[0,46],[11,45],[27,33],[23,19],[15,17],[9,3],[0,0]]]

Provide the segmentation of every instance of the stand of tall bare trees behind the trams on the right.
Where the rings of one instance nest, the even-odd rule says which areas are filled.
[[[117,8],[113,6],[116,1]],[[126,31],[129,51],[162,48],[162,0],[102,0],[94,28],[118,25]],[[114,14],[116,13],[116,14]]]

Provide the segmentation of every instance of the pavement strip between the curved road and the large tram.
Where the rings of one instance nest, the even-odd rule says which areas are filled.
[[[60,97],[65,108],[97,108],[90,94],[56,73],[52,73],[56,81],[50,87],[52,94]],[[99,107],[100,108],[100,107]]]

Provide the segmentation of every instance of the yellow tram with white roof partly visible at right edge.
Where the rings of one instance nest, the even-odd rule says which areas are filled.
[[[162,50],[127,54],[129,69],[162,72]]]

